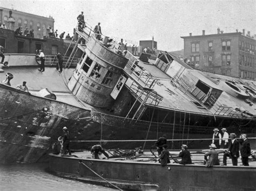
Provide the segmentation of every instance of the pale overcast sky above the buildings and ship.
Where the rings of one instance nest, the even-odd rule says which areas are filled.
[[[59,33],[71,33],[77,16],[84,11],[85,22],[100,22],[102,33],[124,40],[154,40],[158,49],[183,49],[181,36],[245,29],[256,34],[256,0],[0,0],[0,6],[55,19]]]

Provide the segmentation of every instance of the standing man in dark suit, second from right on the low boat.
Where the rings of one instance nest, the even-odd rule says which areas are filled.
[[[232,159],[233,166],[237,166],[237,159],[239,158],[239,142],[237,139],[235,139],[237,135],[235,133],[230,133],[231,143],[228,145],[228,149],[224,151],[223,154],[223,164],[224,166],[227,166],[227,157],[230,157]]]

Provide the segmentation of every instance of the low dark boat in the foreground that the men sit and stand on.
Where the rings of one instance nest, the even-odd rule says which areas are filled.
[[[124,151],[123,151],[124,152]],[[114,153],[114,152],[109,152]],[[64,178],[119,190],[255,190],[256,161],[250,166],[203,165],[204,154],[193,154],[192,165],[161,166],[150,152],[124,152],[109,159],[93,159],[89,151],[49,154],[49,171]],[[133,154],[132,154],[133,153]],[[171,152],[172,155],[178,152]],[[219,158],[222,158],[219,156]]]

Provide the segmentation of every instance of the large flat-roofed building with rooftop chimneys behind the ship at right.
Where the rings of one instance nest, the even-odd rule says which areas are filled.
[[[218,74],[256,79],[256,40],[248,31],[181,37],[184,58],[193,68]]]

